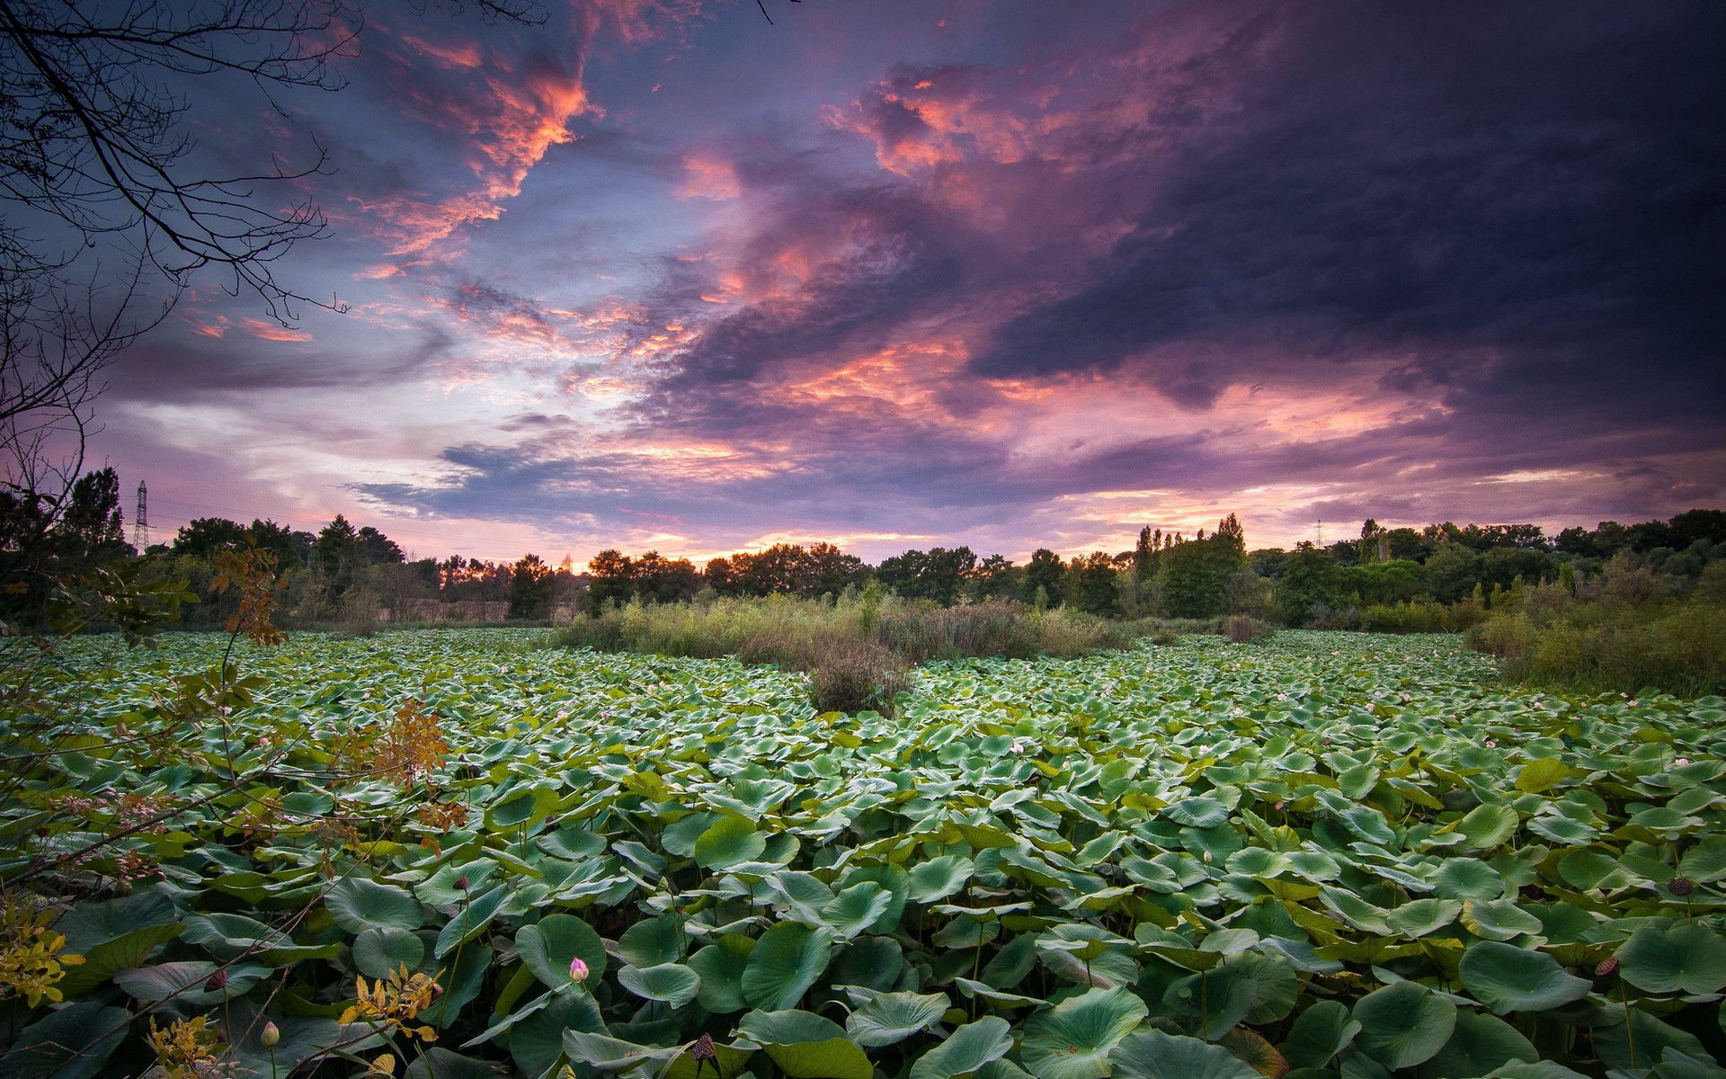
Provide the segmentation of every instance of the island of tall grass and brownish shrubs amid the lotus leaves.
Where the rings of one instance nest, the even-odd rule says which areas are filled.
[[[892,696],[910,685],[910,668],[929,659],[1074,658],[1127,647],[1137,637],[1131,623],[1067,609],[1037,611],[1011,601],[939,608],[865,594],[841,603],[787,596],[632,603],[578,618],[556,640],[608,653],[777,663],[809,673],[809,696],[822,711],[872,708],[889,715]]]

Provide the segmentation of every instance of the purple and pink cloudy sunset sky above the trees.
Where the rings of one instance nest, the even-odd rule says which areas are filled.
[[[123,352],[91,464],[197,516],[585,563],[1251,547],[1726,506],[1726,5],[369,3],[330,237]],[[1322,521],[1322,525],[1320,525]]]

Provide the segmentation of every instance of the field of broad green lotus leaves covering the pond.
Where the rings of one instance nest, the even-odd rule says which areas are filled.
[[[0,1074],[1717,1076],[1726,701],[1445,637],[803,675],[79,639],[5,716]]]

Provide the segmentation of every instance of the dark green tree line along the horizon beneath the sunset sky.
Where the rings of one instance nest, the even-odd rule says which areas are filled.
[[[126,542],[119,476],[104,468],[81,476],[59,506],[0,492],[0,620],[29,623],[55,582],[142,556],[150,575],[186,580],[205,594],[188,625],[219,625],[233,599],[209,592],[214,559],[247,544],[274,554],[288,585],[280,609],[299,623],[375,620],[380,608],[418,620],[463,603],[507,604],[509,618],[542,620],[564,604],[599,613],[708,596],[820,599],[873,584],[941,606],[1013,599],[1110,618],[1250,615],[1296,627],[1460,628],[1538,584],[1562,584],[1581,596],[1629,587],[1622,582],[1635,578],[1638,589],[1686,592],[1705,573],[1726,573],[1710,570],[1726,566],[1726,511],[1691,509],[1636,525],[1602,521],[1555,537],[1538,525],[1445,521],[1417,530],[1367,520],[1358,537],[1326,547],[1251,552],[1239,520],[1229,514],[1210,533],[1200,528],[1186,537],[1146,527],[1131,551],[1063,559],[1041,547],[1024,565],[1003,554],[979,558],[970,547],[930,547],[870,566],[834,544],[811,542],[728,554],[701,568],[658,551],[632,558],[608,549],[576,573],[568,558],[551,566],[537,554],[514,563],[409,559],[383,532],[340,514],[318,532],[273,520],[198,518],[171,542],[138,552]]]

